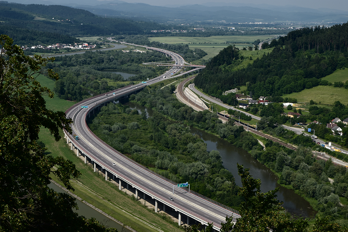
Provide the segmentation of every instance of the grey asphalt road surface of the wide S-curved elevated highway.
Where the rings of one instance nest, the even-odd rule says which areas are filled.
[[[186,63],[180,55],[171,51],[157,48],[149,49],[158,50],[171,55],[178,64]],[[145,84],[139,83],[137,85],[124,87],[113,91],[114,94],[110,92],[107,96],[98,95],[75,104],[66,111],[66,116],[73,119],[73,134],[77,134],[79,140],[74,140],[71,135],[68,135],[68,139],[77,147],[79,152],[87,155],[88,158],[95,161],[108,173],[111,172],[121,177],[122,180],[136,187],[137,190],[146,192],[148,195],[151,195],[152,198],[164,202],[167,206],[185,215],[189,215],[190,218],[194,218],[202,224],[213,223],[214,229],[220,230],[221,222],[225,221],[227,215],[229,217],[232,215],[230,210],[223,208],[223,206],[217,206],[217,202],[204,200],[203,196],[198,197],[195,194],[185,192],[183,189],[178,189],[176,187],[174,188],[173,194],[173,183],[170,183],[164,177],[152,174],[149,170],[142,168],[134,161],[130,161],[122,154],[106,145],[89,130],[86,124],[86,118],[89,117],[89,113],[94,111],[95,108],[101,107],[103,104],[111,102],[121,96],[129,95],[135,90],[144,88],[145,85],[156,83],[165,75],[172,72],[173,69],[170,69],[159,77],[147,81]],[[81,108],[81,106],[86,105],[88,105],[88,108]],[[113,163],[116,165],[113,165]],[[169,198],[173,198],[173,201],[169,200]],[[234,214],[234,217],[239,217],[239,215]]]

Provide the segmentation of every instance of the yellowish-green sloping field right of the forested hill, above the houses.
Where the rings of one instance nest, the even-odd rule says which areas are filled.
[[[345,88],[335,88],[332,86],[316,86],[311,89],[304,89],[299,93],[283,95],[284,97],[296,98],[298,102],[307,102],[313,100],[319,104],[333,104],[335,101],[340,101],[343,104],[348,104],[348,90]]]

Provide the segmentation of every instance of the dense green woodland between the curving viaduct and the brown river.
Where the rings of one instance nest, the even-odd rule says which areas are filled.
[[[170,97],[168,91],[162,96]],[[88,125],[103,141],[164,177],[177,183],[188,181],[191,190],[230,207],[242,200],[236,196],[239,187],[222,166],[220,153],[207,152],[206,144],[188,127],[164,121],[158,112],[147,119],[145,111],[139,115],[137,110],[110,103]]]

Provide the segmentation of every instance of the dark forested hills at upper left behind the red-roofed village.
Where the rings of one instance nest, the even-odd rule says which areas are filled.
[[[17,4],[0,1],[0,33],[26,37],[26,30],[70,35],[74,37],[117,34],[151,34],[165,26],[129,19],[104,18],[89,11],[58,5]],[[11,30],[11,27],[14,29]],[[21,30],[17,30],[21,29]],[[22,29],[25,29],[24,31]],[[12,33],[12,34],[11,34]],[[16,33],[20,33],[18,35]]]

